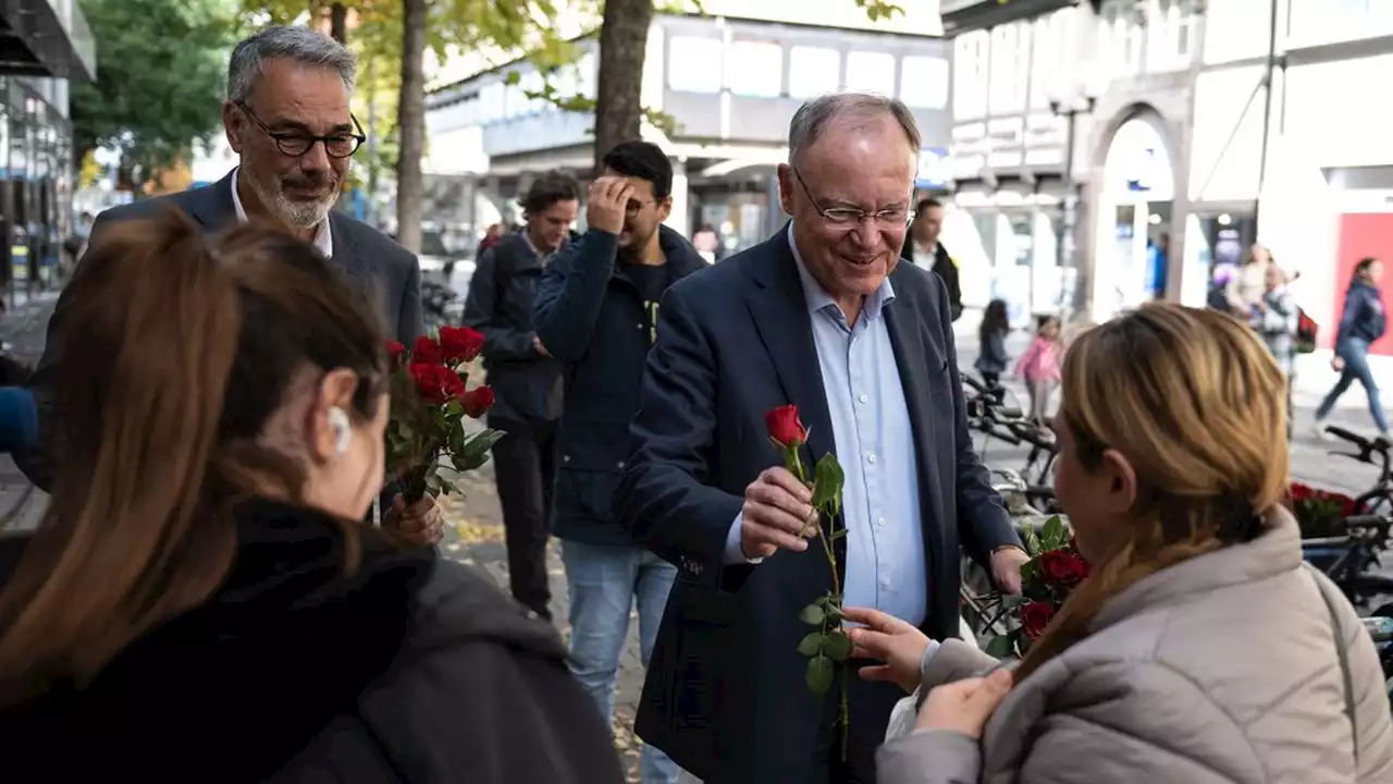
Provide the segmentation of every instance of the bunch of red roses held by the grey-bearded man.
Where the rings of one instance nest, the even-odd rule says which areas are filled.
[[[408,505],[426,494],[460,492],[440,476],[442,456],[454,470],[471,472],[488,462],[489,448],[503,437],[489,428],[465,432],[464,420],[482,417],[493,405],[492,389],[469,388],[468,364],[482,349],[483,336],[462,326],[444,326],[437,339],[417,338],[410,352],[396,340],[387,342],[387,476],[401,483]]]

